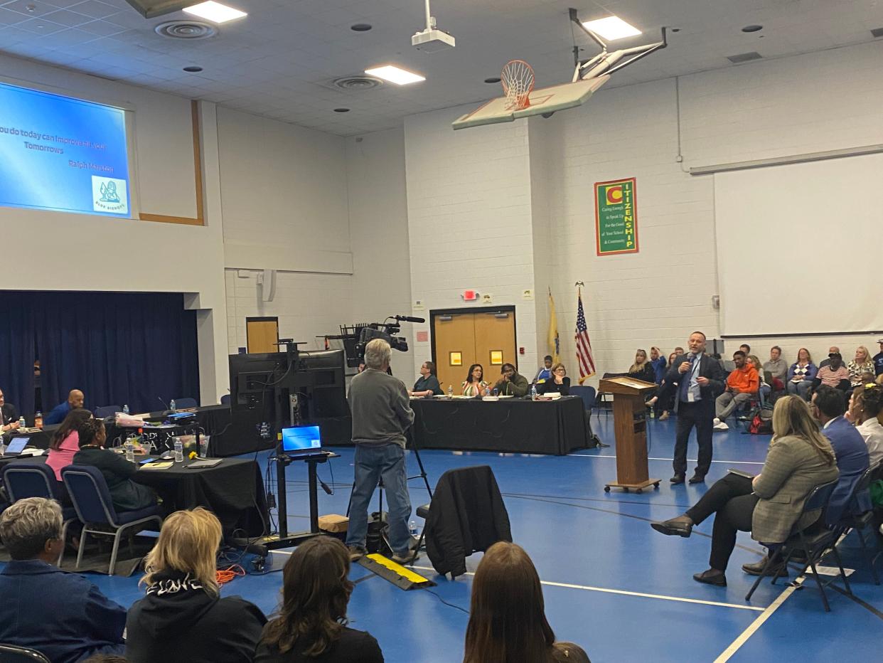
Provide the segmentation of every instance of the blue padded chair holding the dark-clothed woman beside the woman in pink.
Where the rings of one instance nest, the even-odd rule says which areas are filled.
[[[148,522],[155,522],[157,530],[162,526],[160,507],[153,506],[135,511],[122,511],[117,514],[110,499],[108,484],[104,480],[101,470],[90,465],[68,465],[61,470],[64,485],[71,494],[73,507],[76,509],[79,520],[83,522],[83,534],[79,539],[79,552],[77,553],[77,566],[83,560],[83,551],[86,549],[87,534],[113,534],[113,549],[110,552],[110,565],[108,575],[113,575],[117,566],[117,552],[119,541],[125,530],[135,530],[137,534],[145,529]]]

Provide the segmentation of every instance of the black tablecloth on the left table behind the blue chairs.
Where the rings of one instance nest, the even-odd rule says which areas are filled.
[[[0,469],[11,462],[46,462],[46,456],[3,458]],[[221,521],[225,535],[242,530],[247,537],[256,537],[264,532],[267,499],[258,463],[224,458],[214,468],[187,469],[191,462],[175,463],[169,469],[139,469],[134,480],[153,488],[172,511],[206,507]]]

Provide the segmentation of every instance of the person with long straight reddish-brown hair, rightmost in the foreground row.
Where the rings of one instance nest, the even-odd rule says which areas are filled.
[[[489,547],[472,579],[463,663],[588,660],[577,644],[555,642],[540,576],[524,549],[506,541]]]

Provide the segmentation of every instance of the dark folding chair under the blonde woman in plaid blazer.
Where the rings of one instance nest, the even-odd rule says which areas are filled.
[[[831,499],[831,495],[834,493],[834,488],[836,487],[836,479],[834,479],[834,481],[829,481],[827,484],[816,486],[810,492],[809,497],[806,498],[806,502],[804,502],[804,510],[801,512],[801,517],[803,517],[808,511],[814,511],[816,509],[822,510],[822,515],[817,522],[818,524],[810,525],[804,530],[797,530],[796,533],[791,534],[784,544],[763,544],[769,549],[770,554],[766,559],[763,573],[758,575],[758,579],[751,585],[751,591],[749,591],[748,595],[745,597],[746,601],[751,600],[751,594],[753,594],[758,588],[760,581],[764,579],[764,576],[766,576],[766,573],[769,572],[771,568],[778,565],[782,558],[784,558],[784,568],[788,568],[788,563],[794,556],[795,552],[803,552],[806,555],[806,563],[797,575],[804,575],[807,568],[812,568],[812,577],[815,578],[816,584],[819,585],[819,591],[822,594],[822,603],[825,606],[826,613],[831,612],[831,606],[828,605],[825,588],[833,583],[838,577],[843,578],[843,585],[846,587],[846,592],[849,596],[852,596],[852,590],[849,589],[849,579],[846,577],[846,572],[843,571],[843,562],[840,559],[840,552],[837,552],[836,547],[837,538],[840,536],[840,532],[839,530],[829,530],[821,524],[825,522],[825,512],[827,510],[828,501]],[[826,583],[823,583],[819,578],[819,571],[816,570],[816,562],[821,561],[822,558],[826,556],[828,549],[834,554],[834,560],[837,560],[837,568],[840,569],[840,574],[834,575],[833,578]],[[774,573],[772,584],[775,584],[777,577],[778,574]]]

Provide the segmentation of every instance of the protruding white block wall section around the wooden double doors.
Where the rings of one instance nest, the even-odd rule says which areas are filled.
[[[475,306],[466,289],[494,295],[493,304],[516,306],[518,366],[537,362],[533,289],[534,249],[531,167],[527,124],[485,126],[454,132],[450,123],[465,110],[437,110],[405,118],[411,299],[430,309]],[[415,343],[414,368],[430,356]]]

